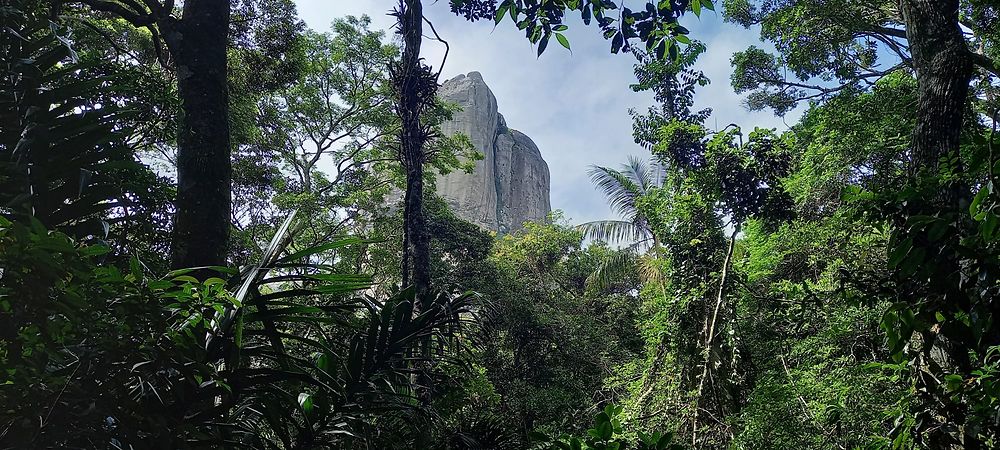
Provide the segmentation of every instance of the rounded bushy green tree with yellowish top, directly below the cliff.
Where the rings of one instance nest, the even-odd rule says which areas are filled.
[[[496,243],[496,281],[479,282],[486,303],[477,361],[522,439],[536,429],[575,431],[596,399],[617,397],[603,380],[638,349],[636,280],[588,290],[588,276],[613,251],[581,245],[564,225],[526,224]]]

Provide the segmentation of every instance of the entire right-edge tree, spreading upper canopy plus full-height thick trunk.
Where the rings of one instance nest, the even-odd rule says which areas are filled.
[[[970,113],[970,104],[989,103],[970,94],[991,91],[991,80],[998,75],[996,6],[959,0],[874,4],[782,2],[761,8],[756,7],[756,2],[740,0],[728,5],[736,13],[727,13],[732,19],[744,25],[762,24],[765,37],[773,40],[781,53],[781,57],[774,57],[750,49],[734,58],[737,66],[742,66],[734,76],[734,87],[757,89],[751,100],[759,100],[759,105],[771,103],[779,110],[787,109],[796,100],[806,98],[802,94],[806,90],[822,97],[871,85],[871,80],[895,70],[895,67],[875,69],[880,49],[894,54],[899,60],[897,66],[914,73],[917,101],[908,148],[907,188],[898,194],[888,193],[884,212],[880,214],[894,225],[894,249],[890,255],[897,256],[889,261],[901,277],[898,279],[901,291],[911,298],[911,305],[904,309],[929,318],[937,314],[972,314],[980,302],[989,303],[990,299],[962,288],[965,285],[962,280],[968,279],[970,270],[978,270],[974,261],[984,256],[979,252],[985,248],[978,247],[970,253],[963,250],[960,241],[942,240],[939,233],[949,229],[955,233],[952,236],[980,234],[979,225],[968,220],[966,210],[972,198],[970,185],[983,183],[983,173],[976,167],[982,150],[963,151],[967,145],[963,144],[969,136],[978,134],[968,133],[979,123],[979,117]],[[811,19],[805,21],[807,26],[787,26],[789,21],[802,17]],[[798,81],[777,76],[782,65],[791,68]],[[840,83],[826,87],[804,82],[816,76]],[[940,218],[940,223],[935,221],[938,231],[930,234],[927,226],[911,223],[922,216]],[[982,217],[985,220],[988,216]],[[973,256],[976,254],[980,256]],[[903,265],[902,257],[911,262]],[[914,280],[906,275],[913,272],[913,264],[930,262],[942,274],[931,277],[936,278],[934,281]],[[937,321],[926,320],[928,324],[934,322]],[[911,357],[917,369],[912,375],[917,391],[922,393],[915,409],[921,417],[920,431],[924,432],[926,445],[955,447],[988,440],[985,436],[990,433],[970,431],[966,421],[975,420],[976,415],[969,415],[966,407],[957,404],[955,397],[935,379],[969,373],[972,363],[967,348],[979,348],[978,353],[985,353],[990,344],[979,347],[984,344],[982,341],[973,343],[962,337],[967,331],[948,327],[921,324],[903,326],[901,332],[913,336]],[[992,332],[980,329],[977,333]],[[958,344],[963,340],[966,344]],[[903,341],[890,341],[894,343],[893,353],[898,353],[897,347]]]

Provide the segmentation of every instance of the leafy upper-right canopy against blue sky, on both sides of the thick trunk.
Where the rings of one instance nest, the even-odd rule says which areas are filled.
[[[997,35],[989,28],[995,19],[987,19],[996,17],[996,6],[955,3],[961,3],[970,48],[981,49],[984,56],[975,63],[996,74],[990,57],[996,57]],[[772,54],[751,45],[734,54],[732,86],[737,93],[749,93],[750,109],[770,108],[784,115],[799,102],[867,90],[898,70],[915,69],[900,5],[889,0],[726,0],[726,21],[759,27],[761,40],[777,50]]]

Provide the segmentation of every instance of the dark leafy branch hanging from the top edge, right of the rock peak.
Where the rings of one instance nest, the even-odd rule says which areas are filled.
[[[539,56],[553,37],[570,48],[563,34],[569,29],[566,16],[579,13],[585,25],[597,22],[604,38],[611,41],[612,53],[644,48],[658,59],[669,56],[676,60],[680,45],[691,43],[690,32],[678,19],[688,11],[701,17],[703,10],[714,11],[715,4],[712,0],[659,0],[633,11],[625,2],[612,0],[451,0],[451,10],[470,21],[492,19],[497,25],[509,17],[532,44],[538,45]]]

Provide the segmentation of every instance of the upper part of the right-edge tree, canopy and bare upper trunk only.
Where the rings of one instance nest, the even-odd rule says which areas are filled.
[[[915,172],[933,171],[958,148],[970,83],[976,69],[1000,73],[991,58],[996,10],[987,2],[771,2],[725,3],[726,19],[760,25],[780,57],[751,47],[737,53],[733,87],[752,91],[749,106],[787,111],[796,102],[824,98],[847,88],[871,87],[905,67],[920,85],[913,135]],[[808,20],[804,20],[808,18]],[[792,22],[803,26],[791,26]],[[962,27],[969,33],[964,33]],[[879,67],[880,55],[892,63]],[[787,67],[796,79],[781,75]],[[810,84],[814,78],[836,84]]]

